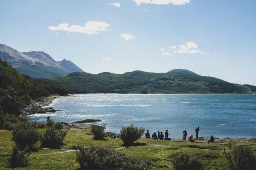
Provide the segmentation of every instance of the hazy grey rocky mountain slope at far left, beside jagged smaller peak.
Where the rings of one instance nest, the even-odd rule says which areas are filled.
[[[22,74],[33,78],[57,78],[73,72],[65,69],[45,52],[21,53],[16,49],[0,44],[0,58]]]

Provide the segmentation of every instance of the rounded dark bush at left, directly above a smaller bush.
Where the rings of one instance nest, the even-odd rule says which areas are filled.
[[[39,139],[37,129],[34,128],[33,124],[30,122],[17,124],[14,127],[12,134],[12,140],[20,149],[25,149],[27,146],[31,149],[32,145],[37,143]]]

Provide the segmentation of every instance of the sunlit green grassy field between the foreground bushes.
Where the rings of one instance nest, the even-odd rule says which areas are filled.
[[[11,141],[11,131],[0,130],[0,170],[7,168],[7,159],[10,157],[14,143]],[[159,141],[152,139],[140,139],[137,146],[122,148],[123,142],[120,139],[107,138],[105,141],[93,140],[93,135],[88,130],[68,131],[64,144],[60,149],[41,149],[33,152],[29,158],[30,165],[26,168],[16,168],[17,170],[77,170],[79,164],[76,163],[76,153],[62,153],[63,150],[73,149],[77,144],[83,146],[104,145],[112,148],[119,148],[118,152],[123,152],[133,157],[149,159],[153,163],[154,170],[171,170],[170,155],[181,150],[198,155],[202,161],[207,163],[210,170],[226,170],[227,162],[223,150],[226,144],[205,144],[191,143],[190,141]],[[256,143],[239,142],[238,145],[247,145],[256,152]],[[122,148],[122,149],[120,149]],[[228,148],[226,148],[228,150]]]

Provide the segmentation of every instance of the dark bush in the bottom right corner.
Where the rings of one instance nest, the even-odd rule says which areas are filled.
[[[229,149],[226,159],[231,170],[255,170],[256,156],[251,148],[229,143]]]

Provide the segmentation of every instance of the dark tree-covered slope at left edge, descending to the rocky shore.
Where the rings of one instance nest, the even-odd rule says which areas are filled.
[[[49,80],[34,79],[20,74],[2,59],[0,59],[0,82],[0,114],[19,115],[20,109],[26,106],[31,98],[67,94],[62,86]]]

